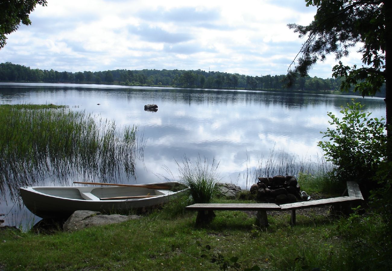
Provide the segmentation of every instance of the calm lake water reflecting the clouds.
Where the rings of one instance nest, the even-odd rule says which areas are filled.
[[[138,125],[147,140],[144,163],[136,165],[138,183],[177,176],[177,162],[184,155],[215,157],[221,181],[249,187],[246,172],[272,150],[299,160],[317,159],[320,131],[329,126],[327,112],[339,114],[352,96],[270,93],[229,90],[168,89],[70,84],[0,83],[0,103],[53,103],[114,119],[118,127]],[[358,98],[374,117],[385,116],[379,98]],[[97,104],[100,105],[97,105]],[[144,111],[155,103],[158,112]],[[123,180],[123,182],[132,182]],[[48,180],[49,185],[55,185]],[[0,199],[0,213],[23,213],[7,199]],[[9,215],[10,216],[10,215]],[[7,220],[11,220],[10,218]],[[27,213],[25,217],[31,217]],[[26,219],[24,217],[24,220]],[[31,218],[30,218],[31,219]],[[9,223],[12,224],[12,223]],[[14,223],[15,224],[15,223]]]

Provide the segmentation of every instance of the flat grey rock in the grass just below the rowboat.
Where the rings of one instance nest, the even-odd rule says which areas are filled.
[[[138,215],[102,215],[96,211],[75,211],[64,223],[64,231],[76,231],[91,226],[120,223],[130,219],[140,219]]]

